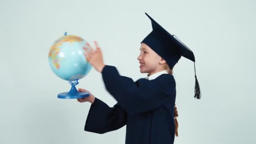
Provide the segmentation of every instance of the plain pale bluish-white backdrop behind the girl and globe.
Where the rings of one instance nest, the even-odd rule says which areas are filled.
[[[256,2],[253,0],[1,0],[0,144],[124,144],[125,126],[84,131],[90,103],[58,99],[70,85],[50,69],[48,51],[67,32],[93,45],[105,64],[137,80],[141,40],[152,31],[147,12],[194,53],[202,99],[194,99],[192,61],[181,58],[176,80],[175,144],[255,144]],[[77,88],[112,107],[92,69]]]

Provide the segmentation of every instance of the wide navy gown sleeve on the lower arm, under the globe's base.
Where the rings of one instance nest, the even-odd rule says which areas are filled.
[[[84,130],[100,134],[107,133],[122,128],[126,125],[126,121],[126,112],[118,103],[109,107],[100,99],[95,98],[88,112]]]

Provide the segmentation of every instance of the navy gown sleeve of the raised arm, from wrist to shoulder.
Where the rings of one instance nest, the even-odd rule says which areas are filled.
[[[148,112],[167,101],[175,101],[176,83],[172,75],[159,80],[141,78],[134,82],[119,75],[117,69],[109,65],[101,73],[107,91],[130,114]]]

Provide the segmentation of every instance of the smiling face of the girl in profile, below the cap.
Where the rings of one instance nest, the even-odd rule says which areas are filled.
[[[139,67],[141,73],[149,73],[149,75],[152,75],[166,69],[166,61],[155,53],[155,51],[153,51],[148,45],[141,43],[140,51],[140,55],[137,59],[140,63]]]

